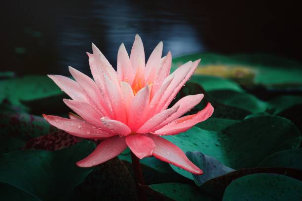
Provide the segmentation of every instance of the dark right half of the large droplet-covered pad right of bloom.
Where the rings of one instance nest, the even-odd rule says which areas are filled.
[[[298,148],[301,134],[288,119],[262,116],[245,119],[220,134],[227,153],[227,166],[234,169],[254,167],[265,157],[281,150]]]

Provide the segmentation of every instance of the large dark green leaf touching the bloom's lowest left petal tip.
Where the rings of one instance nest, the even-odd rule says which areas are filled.
[[[92,168],[76,162],[95,148],[90,141],[59,151],[20,150],[0,154],[0,182],[22,189],[40,200],[67,200]]]

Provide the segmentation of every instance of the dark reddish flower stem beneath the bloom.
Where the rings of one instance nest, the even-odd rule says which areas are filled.
[[[145,185],[143,172],[140,164],[140,159],[135,156],[131,151],[131,160],[134,171],[134,180],[136,183],[136,190],[139,201],[147,201],[147,196],[145,190],[142,188],[142,185]]]

